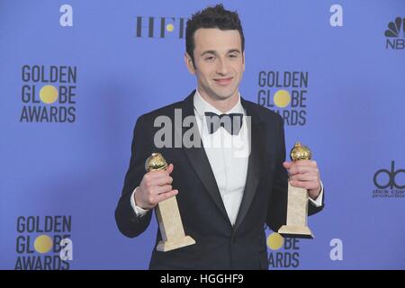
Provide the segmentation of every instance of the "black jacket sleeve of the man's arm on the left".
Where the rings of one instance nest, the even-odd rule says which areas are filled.
[[[140,116],[133,130],[133,139],[131,145],[130,167],[122,188],[121,198],[115,209],[115,221],[118,229],[127,237],[134,238],[139,236],[148,228],[152,212],[142,217],[137,217],[130,205],[130,196],[137,186],[139,186],[143,175],[145,175],[145,161],[150,156],[153,146],[153,137],[150,137],[151,127],[148,127],[148,121]]]

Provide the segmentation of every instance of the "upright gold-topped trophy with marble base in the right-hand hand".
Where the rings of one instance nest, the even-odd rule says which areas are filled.
[[[310,148],[296,142],[291,150],[290,157],[293,161],[310,160]],[[284,237],[313,238],[311,229],[308,228],[308,191],[305,188],[294,187],[288,183],[287,225],[278,229]]]

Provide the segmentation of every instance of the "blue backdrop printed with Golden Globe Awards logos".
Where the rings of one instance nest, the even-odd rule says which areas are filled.
[[[0,268],[148,267],[155,220],[131,239],[113,217],[132,129],[196,87],[184,25],[216,3],[0,0]],[[405,2],[223,3],[241,94],[284,116],[326,187],[315,239],[267,229],[269,268],[404,269]]]

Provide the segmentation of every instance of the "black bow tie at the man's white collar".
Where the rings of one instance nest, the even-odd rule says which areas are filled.
[[[242,127],[242,113],[216,114],[214,112],[205,112],[205,120],[210,134],[214,133],[220,127],[225,128],[231,135],[238,135]]]

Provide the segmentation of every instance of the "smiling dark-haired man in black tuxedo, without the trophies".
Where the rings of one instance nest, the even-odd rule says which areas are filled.
[[[157,203],[176,196],[185,234],[196,241],[168,252],[154,249],[151,269],[267,269],[265,225],[277,231],[285,224],[288,181],[308,189],[310,215],[323,208],[316,162],[286,162],[281,116],[239,94],[244,47],[238,14],[221,4],[193,14],[184,61],[197,89],[140,116],[135,125],[115,211],[118,228],[127,237],[139,236]],[[175,122],[178,112],[193,124],[173,128],[173,137],[184,141],[187,130],[197,130],[197,145],[157,143],[157,118]],[[165,171],[146,173],[153,152],[170,163]],[[156,243],[161,239],[157,229]]]

